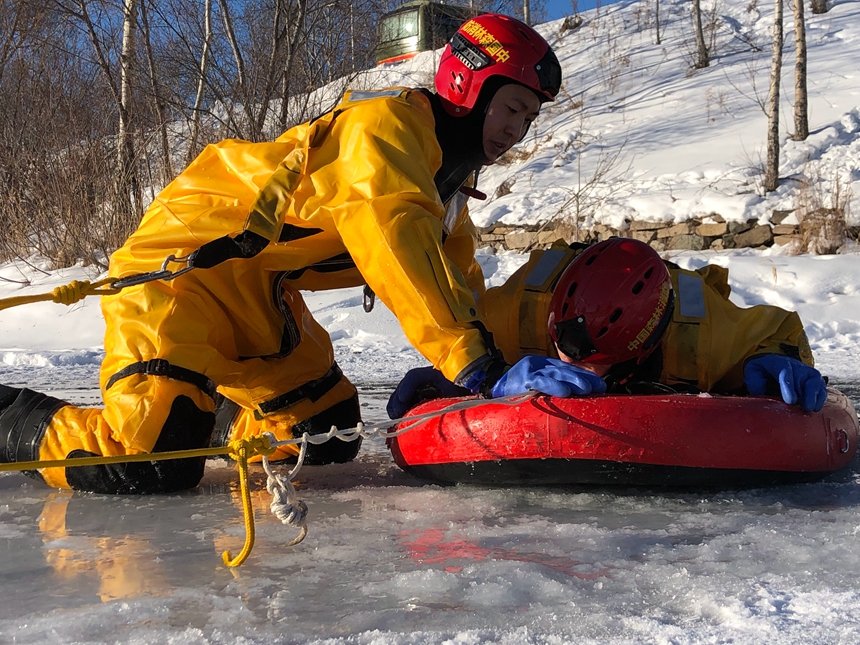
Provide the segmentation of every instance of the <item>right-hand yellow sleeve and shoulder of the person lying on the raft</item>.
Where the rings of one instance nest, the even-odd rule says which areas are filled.
[[[772,305],[738,307],[729,300],[724,267],[673,268],[670,274],[675,311],[661,343],[661,382],[732,392],[743,387],[744,362],[756,354],[784,354],[814,365],[797,313]]]

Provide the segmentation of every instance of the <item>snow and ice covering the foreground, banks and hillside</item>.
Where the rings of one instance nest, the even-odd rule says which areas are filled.
[[[713,66],[696,72],[689,3],[661,3],[660,46],[653,26],[636,30],[645,6],[603,7],[563,36],[558,22],[540,27],[565,66],[565,95],[521,144],[520,161],[486,173],[490,193],[506,180],[512,192],[477,205],[479,224],[545,221],[581,185],[594,220],[615,225],[712,211],[766,221],[796,205],[804,178],[827,194],[838,176],[857,203],[860,1],[809,16],[813,136],[785,140],[781,174],[793,179],[768,197],[751,170],[765,118],[749,80],[758,70],[764,87],[768,54],[748,42],[769,47],[769,3],[720,2],[725,28]],[[367,81],[426,77],[432,58]],[[788,55],[787,81],[792,63]],[[783,117],[790,123],[788,111]],[[616,153],[592,181],[600,160]],[[739,305],[798,311],[819,367],[858,405],[860,254],[844,251],[671,257],[688,268],[727,266]],[[490,286],[524,259],[479,255]],[[48,271],[38,259],[8,263],[0,298],[93,277],[82,267]],[[397,379],[424,360],[384,307],[362,311],[360,290],[306,295],[359,386],[365,420],[383,423]],[[103,330],[97,299],[0,312],[0,382],[97,404]],[[367,442],[356,462],[306,467],[299,480],[307,539],[283,546],[294,532],[269,513],[255,471],[257,544],[228,570],[220,553],[238,551],[244,528],[225,462],[211,462],[194,491],[144,498],[58,492],[0,475],[0,643],[860,642],[856,462],[822,483],[717,493],[440,487]]]

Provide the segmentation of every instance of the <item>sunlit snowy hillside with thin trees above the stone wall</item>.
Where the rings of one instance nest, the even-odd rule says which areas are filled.
[[[706,12],[713,3],[706,3]],[[576,214],[616,228],[626,219],[680,222],[718,213],[727,221],[769,220],[797,206],[804,185],[830,196],[840,183],[860,217],[860,3],[807,9],[809,139],[793,129],[794,32],[786,9],[782,75],[783,148],[779,190],[761,195],[773,4],[717,0],[712,61],[692,68],[690,3],[660,3],[655,45],[653,3],[622,1],[586,14],[560,33],[563,20],[538,27],[564,69],[559,100],[511,155],[490,168],[482,189],[503,182],[510,194],[473,205],[475,222],[539,223]],[[429,83],[436,54],[358,82]]]

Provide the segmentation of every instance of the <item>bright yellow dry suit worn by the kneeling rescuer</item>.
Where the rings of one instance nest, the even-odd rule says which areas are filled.
[[[157,270],[207,243],[238,246],[242,231],[269,244],[103,297],[104,408],[0,388],[0,461],[354,426],[355,388],[300,290],[366,284],[448,378],[481,364],[488,347],[476,311],[484,289],[476,233],[465,195],[443,203],[434,184],[442,163],[434,125],[425,93],[392,88],[347,94],[272,142],[208,146],[156,197],[112,255],[110,275]],[[357,449],[334,440],[309,458],[346,461]],[[203,459],[40,471],[51,486],[100,492],[179,490],[202,472]]]

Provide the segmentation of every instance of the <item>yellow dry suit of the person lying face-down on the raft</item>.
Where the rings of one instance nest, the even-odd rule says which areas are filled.
[[[528,354],[558,357],[547,330],[552,289],[581,248],[558,241],[546,251],[533,251],[503,285],[487,291],[485,319],[509,363]],[[731,393],[742,391],[744,362],[751,356],[784,354],[814,364],[797,313],[733,304],[723,267],[687,271],[667,264],[675,292],[672,320],[658,350],[634,378]]]

